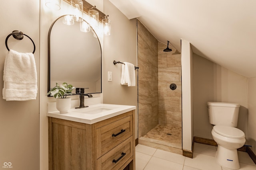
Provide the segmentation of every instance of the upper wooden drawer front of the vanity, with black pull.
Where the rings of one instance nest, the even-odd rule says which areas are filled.
[[[96,129],[97,158],[132,136],[132,115]]]

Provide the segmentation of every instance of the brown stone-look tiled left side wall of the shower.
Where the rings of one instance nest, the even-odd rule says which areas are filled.
[[[138,137],[158,124],[158,41],[138,20]]]

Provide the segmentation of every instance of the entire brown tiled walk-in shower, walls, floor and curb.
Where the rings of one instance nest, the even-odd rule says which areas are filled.
[[[137,28],[139,144],[182,154],[180,52],[171,46],[164,52],[166,44],[139,20]]]

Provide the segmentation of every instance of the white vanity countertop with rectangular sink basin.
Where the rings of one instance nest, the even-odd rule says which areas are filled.
[[[136,109],[136,106],[114,105],[114,104],[95,104],[80,109],[70,109],[68,113],[51,111],[48,117],[55,117],[80,123],[93,124],[122,113]]]

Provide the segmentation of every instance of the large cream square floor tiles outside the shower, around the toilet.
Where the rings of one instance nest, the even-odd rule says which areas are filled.
[[[136,170],[228,170],[215,161],[217,147],[194,144],[194,158],[164,150],[136,146]],[[238,151],[240,170],[256,170],[256,165],[246,152]]]

